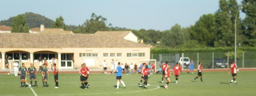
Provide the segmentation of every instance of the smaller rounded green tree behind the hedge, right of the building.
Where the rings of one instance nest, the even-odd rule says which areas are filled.
[[[162,45],[165,47],[176,47],[183,44],[182,28],[179,24],[172,26],[171,30],[163,31],[161,38]]]

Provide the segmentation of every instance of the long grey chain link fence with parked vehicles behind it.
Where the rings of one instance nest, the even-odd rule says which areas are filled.
[[[183,62],[182,62],[183,55]],[[181,53],[181,54],[151,54],[151,59],[156,59],[156,67],[160,68],[166,61],[172,66],[175,63],[183,64],[183,69],[189,69],[189,63],[194,61],[194,68],[202,62],[203,68],[229,68],[234,61],[234,52],[202,52],[202,53]],[[256,52],[238,52],[238,68],[256,68]]]

